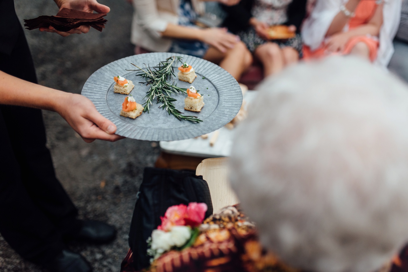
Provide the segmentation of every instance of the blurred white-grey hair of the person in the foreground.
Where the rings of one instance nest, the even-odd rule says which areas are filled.
[[[296,268],[372,272],[408,238],[408,88],[352,57],[286,69],[236,131],[231,183]]]

